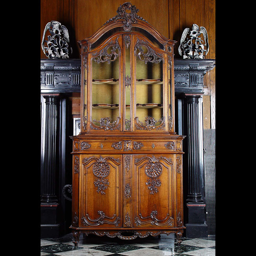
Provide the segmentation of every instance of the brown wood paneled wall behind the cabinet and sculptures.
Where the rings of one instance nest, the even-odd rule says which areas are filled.
[[[57,20],[69,32],[72,59],[80,58],[77,41],[93,35],[125,0],[41,0],[41,38],[45,25]],[[165,37],[176,40],[175,59],[180,38],[185,28],[195,23],[206,28],[210,45],[207,59],[215,59],[215,0],[131,0],[146,19]],[[41,49],[41,58],[47,59]],[[215,128],[215,68],[205,77],[203,96],[204,129]]]

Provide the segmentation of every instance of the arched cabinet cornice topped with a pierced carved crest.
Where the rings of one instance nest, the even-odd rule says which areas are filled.
[[[127,12],[129,11],[129,13]],[[114,29],[120,27],[120,32],[125,33],[133,33],[136,31],[135,28],[140,30],[144,30],[145,33],[151,34],[159,43],[163,46],[166,44],[174,45],[177,41],[173,41],[164,37],[162,34],[159,33],[153,26],[151,26],[145,19],[140,17],[138,13],[139,9],[136,9],[135,5],[132,5],[129,2],[126,2],[117,9],[117,15],[113,18],[109,19],[107,22],[104,23],[102,27],[98,29],[91,37],[85,38],[81,41],[78,41],[80,46],[84,46],[89,44],[89,48],[93,45],[99,38],[102,37],[105,33],[110,30],[113,30],[113,33],[116,32]]]

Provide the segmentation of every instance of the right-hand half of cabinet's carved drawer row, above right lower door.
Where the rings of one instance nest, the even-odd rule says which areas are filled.
[[[181,140],[165,140],[165,141],[133,141],[133,150],[135,151],[182,151]]]

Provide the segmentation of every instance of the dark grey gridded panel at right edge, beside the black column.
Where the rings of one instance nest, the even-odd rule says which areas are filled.
[[[208,234],[215,235],[215,129],[203,129],[204,186]]]

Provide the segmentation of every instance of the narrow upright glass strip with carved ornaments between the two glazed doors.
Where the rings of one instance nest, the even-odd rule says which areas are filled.
[[[131,130],[131,57],[129,35],[124,37],[125,46],[125,131]]]

